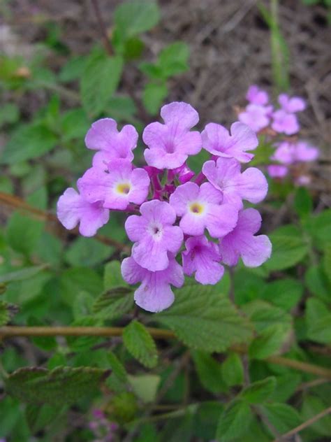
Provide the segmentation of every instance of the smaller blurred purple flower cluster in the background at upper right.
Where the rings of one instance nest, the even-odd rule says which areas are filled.
[[[310,177],[302,172],[302,163],[317,159],[318,149],[297,136],[297,113],[306,108],[304,99],[280,94],[279,107],[275,109],[267,92],[256,85],[249,87],[246,98],[249,104],[238,114],[239,120],[256,133],[265,134],[275,148],[267,167],[269,175],[284,178],[292,173],[298,185],[309,184]]]

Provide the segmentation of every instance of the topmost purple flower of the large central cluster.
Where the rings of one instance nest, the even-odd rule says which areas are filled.
[[[190,131],[199,121],[198,113],[192,106],[177,102],[161,108],[165,124],[148,124],[142,134],[145,159],[149,166],[158,169],[176,169],[186,162],[189,155],[196,155],[202,147],[198,131]]]

